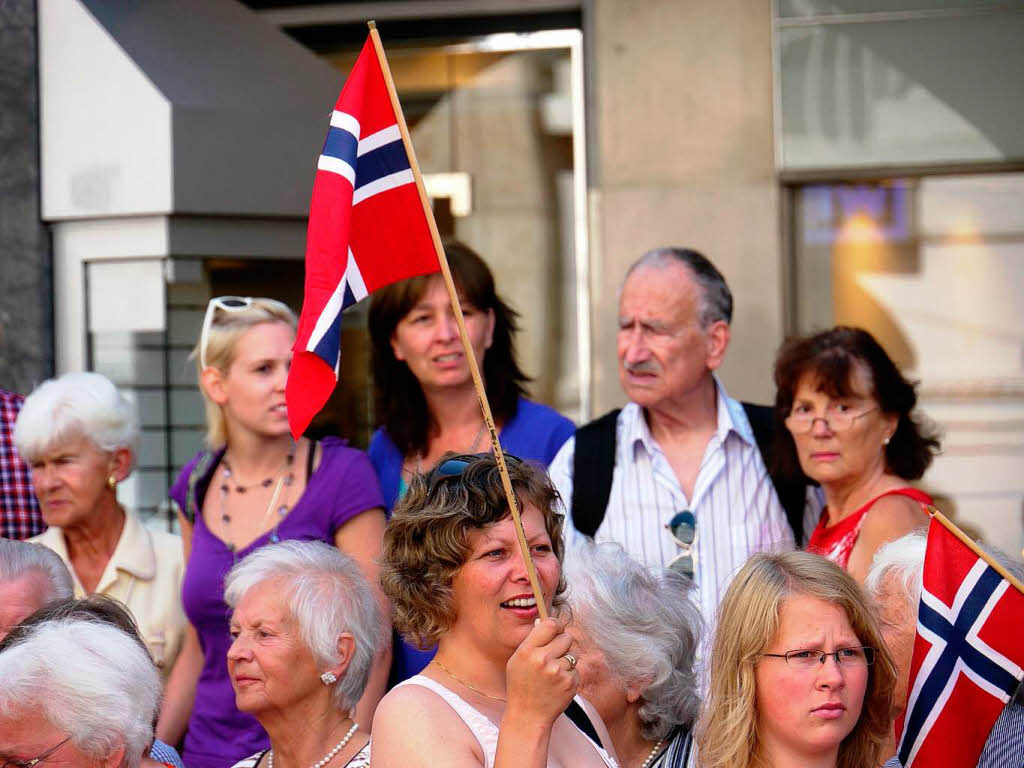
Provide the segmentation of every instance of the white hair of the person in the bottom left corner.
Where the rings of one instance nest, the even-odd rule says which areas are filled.
[[[0,653],[0,713],[41,712],[97,762],[123,746],[122,768],[137,768],[153,742],[160,691],[145,650],[98,622],[43,622]]]

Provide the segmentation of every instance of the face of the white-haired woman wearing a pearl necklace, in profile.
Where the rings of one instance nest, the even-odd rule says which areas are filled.
[[[282,599],[280,581],[268,579],[246,592],[231,614],[230,632],[227,672],[242,712],[258,718],[327,691],[319,680],[324,670],[316,669]]]

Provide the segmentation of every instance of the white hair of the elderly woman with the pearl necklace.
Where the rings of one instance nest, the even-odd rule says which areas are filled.
[[[384,634],[380,606],[359,566],[323,542],[280,542],[231,568],[224,580],[224,600],[234,608],[249,590],[268,580],[280,583],[281,603],[295,617],[317,665],[338,664],[342,633],[355,640],[348,669],[333,692],[339,710],[351,710],[367,687]]]

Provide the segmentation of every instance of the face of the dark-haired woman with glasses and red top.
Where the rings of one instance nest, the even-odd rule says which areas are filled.
[[[833,398],[818,390],[816,377],[804,374],[786,421],[800,466],[808,477],[825,485],[884,471],[885,440],[896,431],[897,418],[883,414],[870,395],[867,371],[858,365],[852,378],[854,394]],[[801,419],[813,419],[809,430],[795,426]]]

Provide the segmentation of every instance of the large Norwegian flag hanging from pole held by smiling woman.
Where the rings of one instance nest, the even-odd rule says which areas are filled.
[[[378,288],[440,268],[399,119],[367,38],[316,163],[305,297],[286,390],[296,438],[338,382],[342,311]]]

